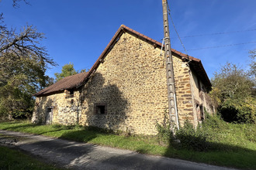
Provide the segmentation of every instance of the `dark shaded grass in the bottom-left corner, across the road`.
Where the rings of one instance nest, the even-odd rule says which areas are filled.
[[[22,151],[0,146],[0,169],[54,170],[59,168],[42,163],[35,158],[24,154]]]

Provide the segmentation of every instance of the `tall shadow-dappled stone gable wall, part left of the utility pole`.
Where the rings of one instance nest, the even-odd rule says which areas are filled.
[[[81,90],[85,125],[156,134],[168,108],[164,57],[161,49],[128,33],[99,65]],[[105,104],[106,114],[95,114],[95,104]]]

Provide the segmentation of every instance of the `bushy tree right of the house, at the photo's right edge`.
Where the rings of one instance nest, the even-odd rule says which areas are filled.
[[[255,122],[254,82],[251,76],[232,63],[222,66],[212,79],[212,97],[218,102],[218,110],[224,121]]]

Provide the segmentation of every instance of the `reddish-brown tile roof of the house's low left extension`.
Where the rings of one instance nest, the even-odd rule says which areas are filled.
[[[68,89],[76,88],[79,85],[81,85],[83,80],[85,80],[85,77],[87,76],[87,74],[88,73],[78,73],[78,74],[74,74],[73,76],[66,76],[63,79],[51,85],[50,87],[47,87],[43,90],[40,90],[40,92],[35,93],[34,96],[43,96],[46,94],[56,93],[66,89],[68,90]]]

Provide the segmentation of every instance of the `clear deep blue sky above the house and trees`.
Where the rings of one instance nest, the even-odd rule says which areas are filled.
[[[49,76],[61,73],[61,67],[69,62],[74,63],[75,70],[90,69],[122,24],[159,42],[163,38],[161,0],[29,2],[31,5],[20,2],[19,8],[12,8],[12,1],[2,0],[0,12],[4,13],[7,26],[19,30],[28,23],[45,33],[47,39],[42,45],[59,64],[47,70]],[[168,0],[168,3],[179,36],[192,36],[182,38],[185,49],[189,56],[202,60],[209,78],[227,61],[248,64],[248,51],[256,48],[255,0]],[[172,48],[185,53],[171,21],[170,29]],[[214,34],[219,32],[226,33]],[[240,43],[244,44],[227,46]],[[213,46],[225,47],[206,48]]]

